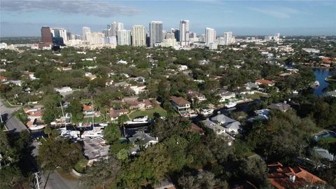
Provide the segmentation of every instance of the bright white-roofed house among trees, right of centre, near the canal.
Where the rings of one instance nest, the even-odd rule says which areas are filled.
[[[226,133],[238,134],[239,130],[241,130],[241,123],[239,121],[229,118],[228,116],[225,116],[224,114],[219,114],[217,116],[214,116],[211,118],[211,120],[214,123],[223,125],[223,127],[225,127]]]

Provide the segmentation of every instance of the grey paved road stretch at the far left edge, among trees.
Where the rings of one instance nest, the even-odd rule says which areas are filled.
[[[0,101],[0,114],[7,130],[14,130],[15,132],[22,132],[25,130],[28,131],[27,127],[20,120],[18,120],[18,118],[13,116],[13,112],[18,111],[18,109],[20,109],[20,107],[7,108]]]

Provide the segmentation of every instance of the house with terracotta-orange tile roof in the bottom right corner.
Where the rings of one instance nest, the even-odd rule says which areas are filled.
[[[325,181],[301,167],[283,167],[280,162],[267,165],[269,182],[275,188],[303,188],[307,184],[325,184]]]

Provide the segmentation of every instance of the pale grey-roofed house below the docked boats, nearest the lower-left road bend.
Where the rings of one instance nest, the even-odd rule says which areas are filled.
[[[110,146],[106,145],[101,137],[83,139],[83,150],[89,165],[95,161],[109,159]]]

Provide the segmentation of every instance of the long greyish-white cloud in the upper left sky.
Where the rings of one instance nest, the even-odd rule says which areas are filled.
[[[106,18],[115,15],[137,15],[141,12],[137,8],[106,0],[1,0],[2,10],[18,13],[43,10]]]

